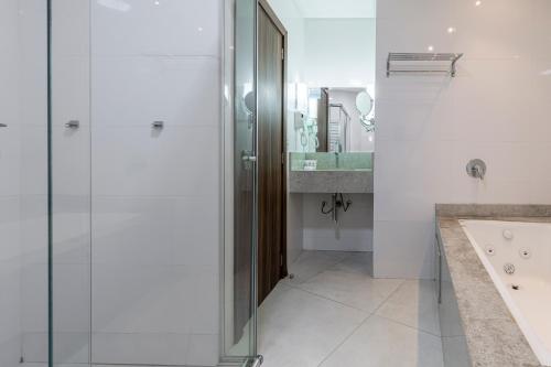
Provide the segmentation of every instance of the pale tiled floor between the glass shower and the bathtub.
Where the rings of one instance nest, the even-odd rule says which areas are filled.
[[[443,366],[432,281],[374,279],[371,253],[304,251],[259,311],[262,367]]]

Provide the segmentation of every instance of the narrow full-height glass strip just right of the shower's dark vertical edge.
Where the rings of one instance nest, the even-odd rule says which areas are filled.
[[[90,7],[51,0],[52,367],[90,363]]]

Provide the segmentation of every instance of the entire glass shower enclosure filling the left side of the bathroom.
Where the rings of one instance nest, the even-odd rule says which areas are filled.
[[[231,192],[253,245],[255,170],[220,187],[220,116],[253,143],[255,48],[234,63],[225,3],[0,1],[0,366],[251,361],[253,249],[220,233]]]

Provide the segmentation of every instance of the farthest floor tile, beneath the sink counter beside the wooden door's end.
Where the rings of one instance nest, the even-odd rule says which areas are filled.
[[[301,256],[289,266],[289,274],[283,282],[303,283],[334,265],[345,260],[350,252],[344,251],[302,251]]]

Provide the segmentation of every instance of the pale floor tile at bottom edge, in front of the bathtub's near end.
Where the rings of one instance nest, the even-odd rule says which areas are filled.
[[[440,337],[371,316],[322,367],[442,367]]]

